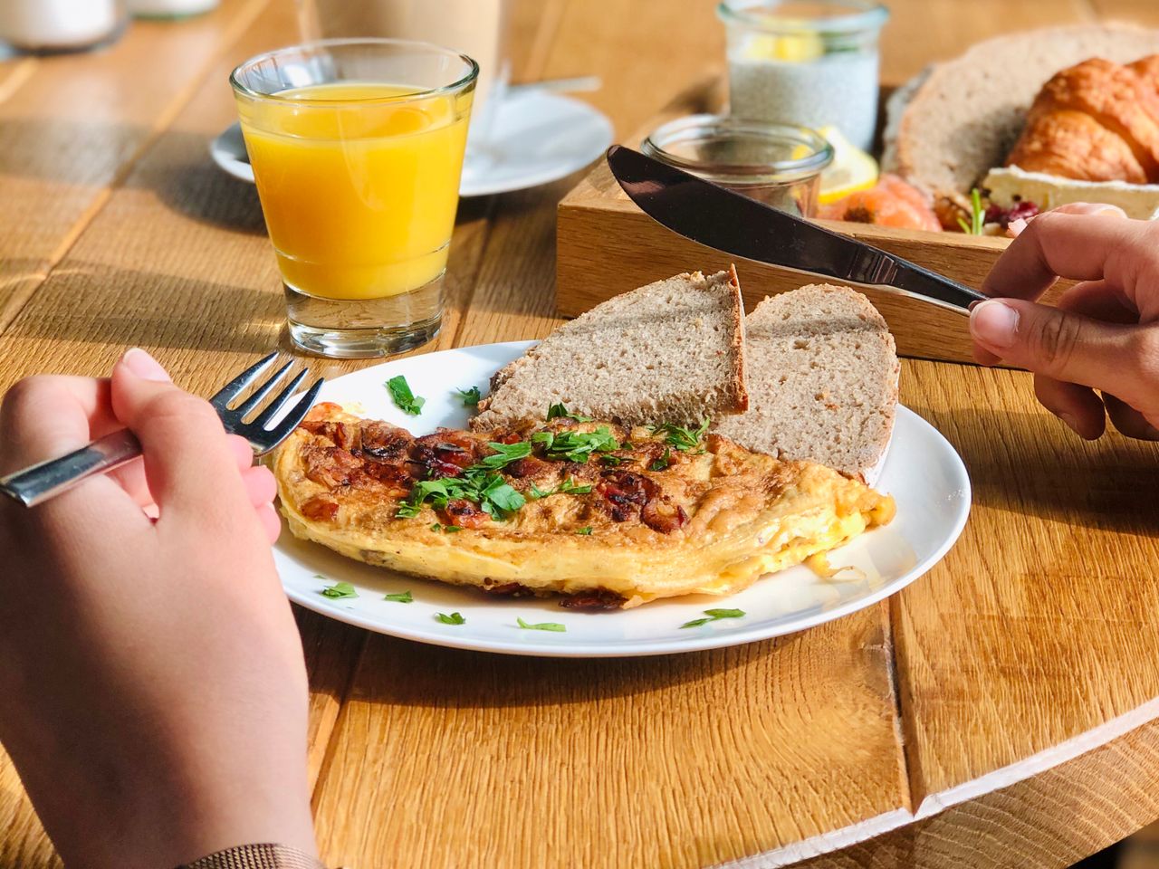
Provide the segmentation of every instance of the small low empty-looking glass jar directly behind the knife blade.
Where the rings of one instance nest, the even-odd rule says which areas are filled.
[[[688,115],[654,130],[641,151],[750,199],[800,217],[817,210],[833,148],[814,130],[719,115]]]

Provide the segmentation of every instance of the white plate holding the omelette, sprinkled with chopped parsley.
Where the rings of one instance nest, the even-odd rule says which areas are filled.
[[[461,428],[467,411],[454,389],[479,386],[486,394],[490,375],[529,346],[529,342],[487,344],[376,365],[327,382],[319,397],[416,433],[439,425]],[[394,407],[382,384],[395,374],[403,374],[414,393],[427,399],[421,416],[406,416]],[[792,634],[867,607],[921,576],[949,550],[965,525],[970,511],[965,467],[933,426],[899,407],[877,488],[896,498],[897,518],[829,555],[831,565],[855,567],[863,579],[822,579],[797,567],[730,597],[657,600],[627,611],[577,612],[561,608],[553,599],[488,597],[362,564],[296,540],[289,531],[283,532],[274,555],[291,600],[381,634],[511,655],[665,655]],[[358,597],[330,599],[320,593],[340,580],[352,583]],[[414,603],[384,599],[406,591]],[[743,609],[746,615],[680,628],[709,608]],[[443,625],[436,619],[436,613],[453,612],[466,622]],[[520,618],[527,623],[562,623],[567,630],[520,629],[516,622]]]

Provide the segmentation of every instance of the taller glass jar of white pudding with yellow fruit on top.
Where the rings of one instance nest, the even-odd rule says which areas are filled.
[[[877,125],[877,38],[889,10],[872,0],[723,0],[730,112],[836,126],[863,151]]]

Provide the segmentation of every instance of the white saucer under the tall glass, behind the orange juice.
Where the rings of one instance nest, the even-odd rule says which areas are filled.
[[[472,147],[462,167],[460,196],[487,196],[547,184],[597,160],[612,144],[612,124],[586,103],[527,90],[500,104],[487,147]],[[210,155],[235,178],[254,183],[241,126],[210,143]]]

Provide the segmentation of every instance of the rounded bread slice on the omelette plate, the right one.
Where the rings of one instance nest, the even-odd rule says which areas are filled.
[[[897,350],[882,315],[846,286],[810,284],[765,299],[745,329],[749,410],[714,430],[756,452],[865,479],[897,407]]]

